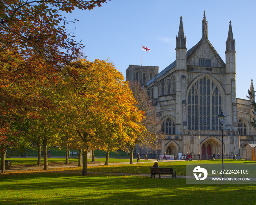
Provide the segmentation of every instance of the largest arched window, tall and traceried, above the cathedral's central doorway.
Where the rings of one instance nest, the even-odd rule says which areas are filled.
[[[188,92],[188,129],[220,130],[221,105],[221,92],[214,81],[207,77],[197,80]]]

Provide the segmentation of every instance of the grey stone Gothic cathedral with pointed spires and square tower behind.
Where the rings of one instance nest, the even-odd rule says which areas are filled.
[[[161,116],[160,154],[192,153],[198,159],[222,155],[222,132],[218,115],[226,115],[223,123],[223,155],[230,159],[246,158],[247,144],[256,143],[256,130],[251,102],[255,101],[253,81],[250,99],[236,98],[236,42],[231,21],[226,40],[226,59],[221,59],[208,40],[208,22],[204,12],[202,38],[187,50],[182,17],[176,37],[176,60],[158,73],[157,66],[129,65],[126,80],[142,84]],[[240,82],[241,83],[241,82]],[[249,82],[248,82],[249,85]],[[247,94],[247,93],[246,93]]]

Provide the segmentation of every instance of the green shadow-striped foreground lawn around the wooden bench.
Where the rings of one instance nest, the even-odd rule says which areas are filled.
[[[28,159],[28,158],[27,158]],[[54,158],[52,158],[54,159]],[[225,163],[233,163],[225,160]],[[235,162],[248,163],[245,160]],[[186,163],[161,162],[183,175]],[[221,163],[207,160],[199,163]],[[149,174],[153,163],[88,167],[88,171]],[[65,170],[65,171],[64,171]],[[0,175],[0,204],[255,204],[255,185],[195,185],[185,178],[88,175],[81,168]]]

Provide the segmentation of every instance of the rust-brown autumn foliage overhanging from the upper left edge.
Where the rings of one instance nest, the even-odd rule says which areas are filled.
[[[34,88],[56,84],[63,65],[83,47],[65,30],[62,13],[100,7],[106,0],[0,1],[0,141],[1,159],[12,141],[8,132],[15,117],[31,107],[47,107]],[[7,135],[6,135],[7,134]],[[6,146],[5,146],[5,145]]]

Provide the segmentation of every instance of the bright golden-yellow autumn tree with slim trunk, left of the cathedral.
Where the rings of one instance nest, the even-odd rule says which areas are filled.
[[[106,142],[115,142],[116,137],[123,138],[125,143],[131,141],[125,125],[139,132],[137,122],[142,120],[142,113],[133,105],[135,99],[122,73],[112,63],[80,59],[67,67],[63,77],[67,80],[63,109],[73,116],[83,145],[82,175],[87,175],[87,151],[106,148]]]

